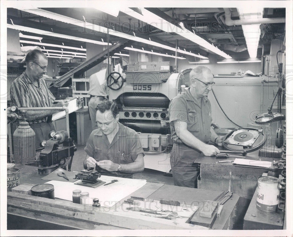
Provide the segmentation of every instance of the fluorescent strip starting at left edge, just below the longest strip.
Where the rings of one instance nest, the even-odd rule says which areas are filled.
[[[102,41],[89,40],[89,39],[70,36],[70,35],[63,35],[63,34],[53,33],[53,32],[46,31],[46,30],[39,30],[39,29],[35,29],[35,28],[30,28],[30,27],[26,27],[26,26],[22,26],[22,25],[7,24],[7,28],[14,29],[14,30],[26,31],[26,32],[30,32],[30,33],[39,34],[39,35],[47,35],[47,36],[57,37],[57,38],[62,38],[62,39],[76,40],[76,41],[81,41],[81,42],[88,42],[88,43],[93,43],[93,44],[96,44],[96,45],[107,45],[106,42],[102,42]]]

